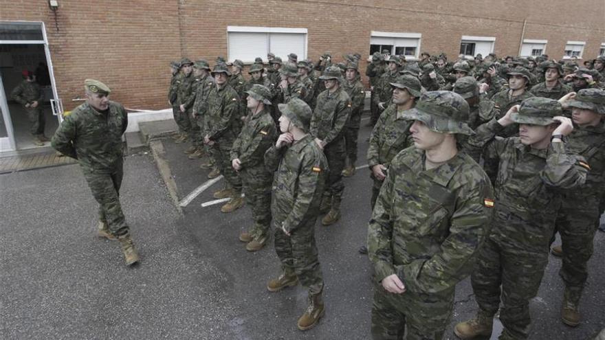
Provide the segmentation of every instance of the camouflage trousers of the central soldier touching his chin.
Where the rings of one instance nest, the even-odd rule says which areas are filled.
[[[300,284],[309,289],[309,297],[321,293],[324,286],[315,242],[316,220],[317,217],[309,218],[290,231],[290,236],[278,225],[274,226],[275,251],[283,272],[295,274]]]

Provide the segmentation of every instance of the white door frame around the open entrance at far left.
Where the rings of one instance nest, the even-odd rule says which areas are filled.
[[[56,102],[60,102],[61,100],[59,99],[59,95],[58,92],[56,90],[56,82],[54,80],[54,69],[52,67],[52,59],[50,58],[50,48],[48,47],[48,38],[46,35],[46,25],[44,24],[43,21],[0,21],[0,23],[37,23],[37,24],[41,24],[41,30],[42,30],[42,36],[43,36],[43,40],[34,40],[34,41],[29,41],[29,40],[0,40],[0,45],[32,45],[32,44],[36,44],[36,45],[43,45],[44,47],[44,54],[46,56],[46,66],[48,68],[48,75],[50,77],[50,87],[52,89],[52,96],[53,99]],[[1,82],[0,82],[1,84]],[[8,98],[6,98],[6,93],[4,92],[4,87],[0,87],[0,105],[2,105],[2,115],[4,118],[4,124],[6,125],[6,132],[8,134],[8,146],[10,147],[9,150],[5,150],[5,148],[2,148],[2,152],[4,151],[14,151],[16,150],[17,144],[14,141],[14,130],[12,128],[12,121],[10,120],[10,112],[8,111]],[[51,107],[52,107],[52,112],[54,115],[57,116],[57,119],[59,121],[59,124],[61,124],[61,122],[63,121],[63,112],[58,112],[56,110],[57,107],[61,107],[61,105],[55,105],[53,102],[51,102]],[[62,110],[62,109],[61,109]],[[5,142],[2,140],[4,138],[0,138],[0,144],[2,146],[5,145]]]

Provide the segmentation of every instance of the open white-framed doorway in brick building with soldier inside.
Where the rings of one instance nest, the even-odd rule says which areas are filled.
[[[60,118],[43,23],[0,22],[0,81],[0,151],[49,147]]]

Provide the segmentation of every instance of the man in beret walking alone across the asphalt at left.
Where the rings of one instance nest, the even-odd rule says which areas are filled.
[[[122,134],[128,126],[128,114],[122,104],[109,101],[109,87],[98,80],[84,81],[86,102],[78,106],[52,137],[52,147],[78,160],[84,178],[99,203],[98,236],[120,241],[127,266],[139,261],[122,207],[120,185]]]

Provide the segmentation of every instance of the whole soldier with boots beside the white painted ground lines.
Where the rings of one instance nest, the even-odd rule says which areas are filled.
[[[203,142],[210,146],[212,157],[225,177],[225,188],[214,192],[214,198],[230,198],[221,207],[221,212],[228,213],[243,205],[241,178],[232,168],[230,155],[233,141],[241,130],[240,100],[237,92],[228,84],[230,73],[225,65],[214,65],[211,74],[216,86],[208,94]]]

